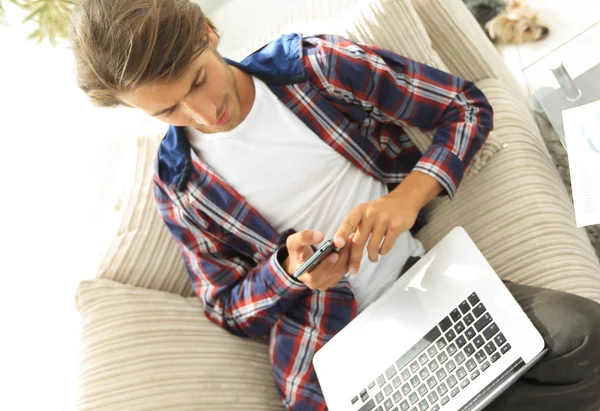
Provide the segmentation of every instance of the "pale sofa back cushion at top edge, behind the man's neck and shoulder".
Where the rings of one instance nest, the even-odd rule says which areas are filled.
[[[328,33],[445,68],[410,0],[256,3],[233,0],[211,13],[222,34],[219,51],[224,56],[241,60],[284,33]]]

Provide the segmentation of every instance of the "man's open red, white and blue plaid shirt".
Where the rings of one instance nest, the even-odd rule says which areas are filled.
[[[390,187],[419,170],[454,195],[492,128],[491,107],[472,83],[337,36],[284,35],[227,62],[262,79],[332,149]],[[436,129],[425,153],[404,126]],[[154,183],[207,317],[239,336],[269,335],[284,405],[326,409],[311,362],[356,315],[347,280],[321,292],[290,278],[281,267],[290,232],[277,232],[203,164],[185,128],[171,127],[161,143]]]

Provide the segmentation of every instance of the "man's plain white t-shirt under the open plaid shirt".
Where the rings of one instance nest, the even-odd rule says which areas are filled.
[[[244,121],[224,133],[188,128],[190,143],[277,230],[319,230],[331,239],[354,206],[383,197],[387,186],[322,141],[253,78],[256,97]],[[359,272],[348,274],[359,310],[397,279],[409,256],[423,253],[410,232],[377,263],[369,261],[365,249]]]

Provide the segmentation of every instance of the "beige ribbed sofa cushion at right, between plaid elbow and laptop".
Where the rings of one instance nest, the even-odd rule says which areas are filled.
[[[495,108],[499,151],[455,198],[434,200],[418,237],[432,247],[465,227],[500,277],[600,302],[600,264],[527,110],[499,80],[478,83]]]

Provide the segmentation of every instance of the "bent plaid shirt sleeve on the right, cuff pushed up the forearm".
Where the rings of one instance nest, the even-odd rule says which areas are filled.
[[[493,128],[492,107],[473,83],[375,46],[338,36],[307,37],[306,66],[317,87],[362,106],[376,121],[435,129],[413,170],[453,197]]]

